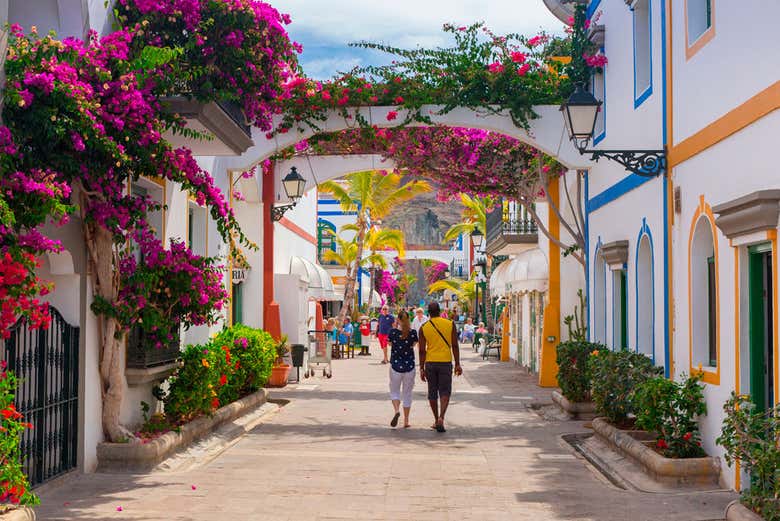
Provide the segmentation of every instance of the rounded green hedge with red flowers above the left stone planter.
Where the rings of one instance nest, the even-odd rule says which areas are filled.
[[[188,421],[257,391],[271,376],[277,346],[266,331],[241,324],[206,345],[187,346],[163,396],[166,416]]]

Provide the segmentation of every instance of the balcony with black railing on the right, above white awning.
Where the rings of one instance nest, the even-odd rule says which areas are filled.
[[[528,209],[511,201],[503,203],[501,208],[487,215],[487,254],[516,255],[536,248],[539,234]]]

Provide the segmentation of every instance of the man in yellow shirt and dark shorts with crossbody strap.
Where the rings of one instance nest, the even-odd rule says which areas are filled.
[[[452,361],[455,374],[460,376],[460,348],[458,333],[452,320],[441,317],[438,302],[428,304],[429,320],[420,327],[420,378],[428,382],[428,402],[438,432],[446,432],[444,415],[452,394]]]

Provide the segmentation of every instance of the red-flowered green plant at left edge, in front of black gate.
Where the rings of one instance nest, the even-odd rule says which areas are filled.
[[[38,497],[29,491],[27,476],[22,471],[21,437],[29,423],[14,406],[16,377],[5,372],[5,362],[0,361],[0,506],[37,505]]]

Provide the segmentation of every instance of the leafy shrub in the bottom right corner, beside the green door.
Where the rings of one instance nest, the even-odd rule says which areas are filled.
[[[732,392],[723,410],[726,418],[715,442],[726,450],[729,465],[739,461],[750,474],[742,503],[766,521],[780,521],[780,405],[758,411],[749,396]]]

